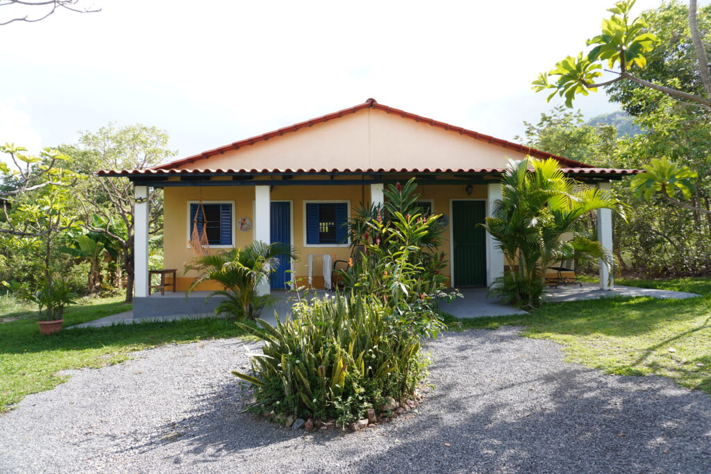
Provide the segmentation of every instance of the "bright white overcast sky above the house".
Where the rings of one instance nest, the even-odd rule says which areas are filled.
[[[0,142],[37,151],[140,122],[188,156],[368,97],[512,139],[553,105],[530,82],[611,4],[97,0],[100,13],[0,26]],[[616,109],[604,93],[576,102]]]

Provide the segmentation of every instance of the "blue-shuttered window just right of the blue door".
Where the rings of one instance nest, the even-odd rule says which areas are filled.
[[[306,203],[306,244],[347,245],[348,203]]]

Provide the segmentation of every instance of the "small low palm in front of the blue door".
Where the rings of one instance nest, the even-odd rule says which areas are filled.
[[[223,289],[213,291],[206,298],[220,295],[227,299],[220,301],[215,313],[232,313],[237,318],[255,319],[272,297],[257,293],[257,284],[269,278],[279,266],[279,255],[295,259],[294,248],[289,244],[275,242],[252,242],[242,249],[232,249],[213,255],[201,255],[186,265],[186,273],[196,269],[201,272],[188,287],[186,296],[203,283],[213,280]]]

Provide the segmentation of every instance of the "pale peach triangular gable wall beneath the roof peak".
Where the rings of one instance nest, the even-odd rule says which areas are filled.
[[[524,156],[456,131],[365,108],[180,168],[503,168],[507,158]]]

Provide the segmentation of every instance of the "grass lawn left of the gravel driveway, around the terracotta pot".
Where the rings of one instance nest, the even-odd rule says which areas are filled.
[[[85,323],[131,309],[123,297],[85,301],[68,308],[64,326]],[[240,335],[226,319],[170,321],[117,325],[105,328],[63,329],[43,336],[31,308],[13,298],[0,297],[0,413],[28,394],[42,392],[65,381],[60,370],[102,367],[127,360],[129,352],[166,343]]]

